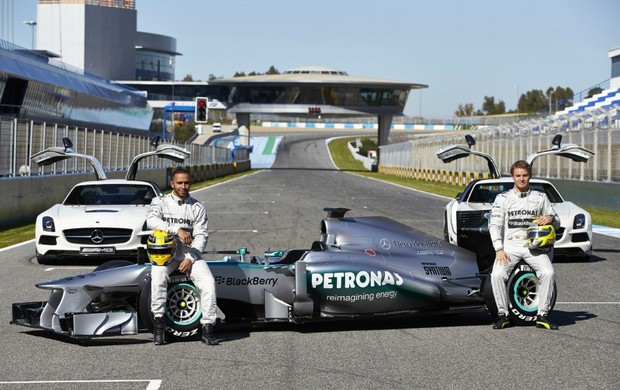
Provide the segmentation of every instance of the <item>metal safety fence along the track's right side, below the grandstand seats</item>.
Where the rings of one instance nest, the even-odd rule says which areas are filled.
[[[436,152],[448,145],[466,144],[465,135],[472,135],[475,149],[495,159],[502,174],[509,174],[510,165],[532,153],[550,149],[552,139],[562,134],[562,143],[583,146],[595,153],[587,163],[567,158],[544,156],[533,164],[533,175],[548,179],[620,183],[620,124],[617,120],[601,125],[579,126],[561,130],[540,128],[532,131],[528,124],[493,126],[471,131],[451,131],[419,135],[401,143],[380,147],[379,172],[402,177],[446,181],[466,185],[488,175],[486,161],[471,156],[444,164]]]

